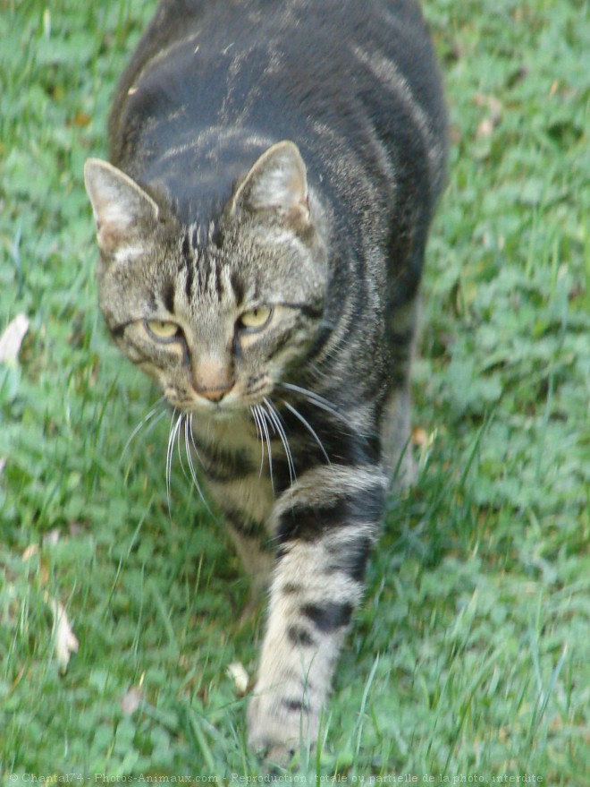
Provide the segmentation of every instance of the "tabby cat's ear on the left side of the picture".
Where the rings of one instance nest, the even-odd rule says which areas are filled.
[[[84,165],[84,183],[97,222],[98,247],[114,256],[137,246],[146,224],[153,224],[159,209],[154,200],[120,169],[99,158]]]

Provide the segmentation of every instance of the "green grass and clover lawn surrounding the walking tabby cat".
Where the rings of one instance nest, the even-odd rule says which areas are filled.
[[[0,333],[30,320],[0,365],[5,783],[265,773],[226,672],[254,671],[261,614],[240,623],[247,582],[179,466],[168,514],[166,423],[124,451],[157,394],[97,312],[82,166],[152,10],[2,3]],[[420,481],[390,502],[324,742],[284,781],[590,784],[589,11],[426,3],[453,145]],[[65,673],[47,593],[80,640]]]

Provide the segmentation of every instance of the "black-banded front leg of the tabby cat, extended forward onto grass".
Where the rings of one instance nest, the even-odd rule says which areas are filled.
[[[277,501],[274,566],[249,743],[285,760],[313,746],[384,508],[378,466],[317,467]]]

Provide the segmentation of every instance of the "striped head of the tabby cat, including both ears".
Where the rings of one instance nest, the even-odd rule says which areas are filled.
[[[302,360],[325,301],[321,210],[297,147],[266,150],[208,227],[182,226],[166,199],[105,161],[89,159],[85,180],[100,305],[125,355],[184,410],[268,396]]]

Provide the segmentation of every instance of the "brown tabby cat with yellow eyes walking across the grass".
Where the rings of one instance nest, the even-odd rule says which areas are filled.
[[[85,165],[106,324],[268,583],[249,744],[279,761],[316,741],[390,481],[413,475],[446,129],[414,0],[164,0],[110,160]]]

